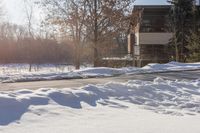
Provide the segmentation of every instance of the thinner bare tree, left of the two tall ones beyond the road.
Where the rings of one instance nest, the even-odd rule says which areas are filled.
[[[81,0],[45,0],[42,5],[48,10],[47,20],[59,25],[60,32],[72,39],[75,45],[75,66],[80,68],[81,44],[83,43],[86,16],[85,1]]]

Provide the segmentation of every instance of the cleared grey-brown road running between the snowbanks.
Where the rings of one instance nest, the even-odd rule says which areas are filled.
[[[121,75],[109,78],[91,78],[74,80],[54,80],[20,83],[0,83],[0,91],[11,91],[20,89],[39,89],[39,88],[77,88],[88,84],[105,84],[107,82],[127,82],[129,80],[153,81],[156,77],[169,80],[195,80],[200,78],[200,70],[182,71],[169,73],[151,73],[137,75]]]

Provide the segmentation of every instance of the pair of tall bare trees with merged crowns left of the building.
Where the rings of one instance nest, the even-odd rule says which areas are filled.
[[[134,0],[44,0],[48,19],[72,36],[76,46],[76,68],[80,66],[80,44],[94,50],[94,66],[100,60],[100,45],[127,30]],[[106,47],[109,43],[106,44]]]

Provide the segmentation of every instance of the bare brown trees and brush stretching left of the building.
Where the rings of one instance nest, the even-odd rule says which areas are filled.
[[[74,63],[98,66],[127,49],[134,0],[24,0],[26,25],[0,24],[0,63]],[[43,10],[34,30],[34,6]],[[51,29],[55,27],[54,29]],[[41,32],[42,30],[42,32]]]

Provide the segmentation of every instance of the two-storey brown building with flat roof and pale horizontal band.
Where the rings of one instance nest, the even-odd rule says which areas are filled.
[[[168,42],[172,32],[168,30],[169,5],[136,5],[128,36],[128,52],[134,58],[134,66],[169,61]]]

